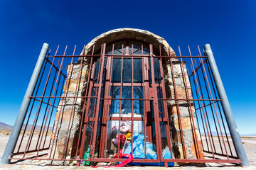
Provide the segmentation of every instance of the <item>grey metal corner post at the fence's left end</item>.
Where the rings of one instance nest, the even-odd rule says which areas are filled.
[[[26,90],[26,94],[21,103],[21,108],[18,111],[18,116],[16,118],[14,128],[11,130],[11,135],[10,135],[9,141],[6,145],[6,149],[4,150],[4,154],[3,154],[0,164],[8,164],[11,154],[14,153],[16,142],[18,141],[18,135],[21,132],[23,121],[26,118],[26,113],[28,111],[29,103],[31,101],[31,98],[29,98],[29,96],[33,95],[33,91],[36,88],[36,82],[38,81],[38,77],[39,77],[41,69],[43,67],[43,61],[48,52],[48,48],[49,48],[49,45],[44,43],[42,50],[40,52],[40,55],[38,57],[38,61],[36,62],[36,67],[33,70],[31,80],[29,81],[28,88]]]

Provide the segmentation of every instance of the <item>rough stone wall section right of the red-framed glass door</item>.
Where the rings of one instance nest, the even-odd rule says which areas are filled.
[[[174,76],[171,72],[173,69]],[[183,73],[183,69],[184,72]],[[171,67],[171,62],[166,61],[164,63],[164,81],[166,84],[166,96],[168,98],[190,98],[191,96],[191,84],[189,83],[188,74],[186,71],[186,63],[183,62],[183,69],[181,62],[178,60],[173,60],[173,67]],[[184,77],[185,75],[185,77]],[[187,84],[187,91],[185,86],[185,81]],[[174,93],[174,81],[176,86],[176,95]],[[193,107],[193,102],[190,101],[167,101],[168,111],[169,111],[169,123],[172,137],[172,149],[174,151],[174,157],[176,159],[196,159],[199,157],[196,147],[196,140],[198,142],[198,149],[201,159],[203,159],[203,149],[201,139],[199,137],[198,129],[196,128],[196,117],[194,115],[195,109]],[[190,108],[191,106],[191,108]],[[181,123],[178,120],[178,111],[181,118]],[[193,116],[193,120],[192,120]],[[193,121],[193,122],[192,122]],[[193,123],[196,128],[196,136],[193,135],[195,132],[193,130]],[[183,132],[184,145],[186,149],[186,157],[183,151],[183,142],[181,140],[181,128]]]

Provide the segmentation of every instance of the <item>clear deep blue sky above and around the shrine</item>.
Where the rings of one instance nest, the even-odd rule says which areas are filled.
[[[210,43],[238,130],[256,133],[256,1],[0,1],[0,121],[13,125],[43,42],[82,47],[140,28],[177,49]]]

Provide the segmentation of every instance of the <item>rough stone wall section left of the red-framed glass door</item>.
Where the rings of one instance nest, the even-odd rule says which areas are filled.
[[[69,64],[67,70],[69,76],[63,87],[63,97],[84,96],[88,72],[89,64],[87,60],[82,62],[81,70],[80,62]],[[52,159],[73,159],[75,157],[83,103],[84,99],[82,98],[64,98],[63,100],[60,100],[58,111],[55,115],[54,131],[51,136],[52,141],[55,142],[55,145],[53,145],[53,153],[51,155]],[[57,131],[55,133],[56,126]],[[68,138],[66,140],[67,131]],[[64,149],[65,145],[68,147]]]

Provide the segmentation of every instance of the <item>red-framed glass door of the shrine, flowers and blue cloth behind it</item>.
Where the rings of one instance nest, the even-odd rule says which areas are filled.
[[[161,47],[134,40],[102,45],[90,68],[81,158],[88,150],[92,162],[114,162],[122,150],[161,162],[171,150],[160,56]]]

